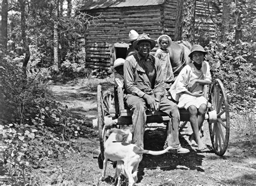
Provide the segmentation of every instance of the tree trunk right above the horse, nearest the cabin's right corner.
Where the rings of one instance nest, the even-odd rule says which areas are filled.
[[[183,0],[177,1],[177,8],[176,8],[176,24],[175,24],[175,33],[174,33],[174,40],[179,41],[181,40],[181,30],[183,24]]]

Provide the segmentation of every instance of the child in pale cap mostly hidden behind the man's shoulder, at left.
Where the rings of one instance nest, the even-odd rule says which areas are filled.
[[[116,59],[110,70],[114,74],[114,85],[117,87],[124,87],[124,62],[123,58]]]

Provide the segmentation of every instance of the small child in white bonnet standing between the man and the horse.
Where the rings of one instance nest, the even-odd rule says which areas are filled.
[[[171,45],[172,39],[168,35],[163,34],[160,35],[160,37],[157,39],[157,42],[159,48],[157,49],[156,54],[154,54],[154,56],[160,59],[165,83],[170,84],[174,79],[174,75],[170,61],[170,53],[167,48]]]

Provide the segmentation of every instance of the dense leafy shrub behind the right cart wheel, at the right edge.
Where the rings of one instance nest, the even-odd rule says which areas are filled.
[[[219,78],[226,89],[228,103],[234,111],[251,112],[254,108],[255,78],[253,54],[255,45],[241,42],[211,42],[207,60],[213,80]]]

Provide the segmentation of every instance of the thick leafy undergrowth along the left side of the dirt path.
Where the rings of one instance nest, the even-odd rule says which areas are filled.
[[[14,179],[10,182],[20,184],[32,168],[75,151],[70,139],[91,131],[51,98],[45,71],[37,69],[26,79],[17,65],[6,61],[0,66],[0,137],[6,146],[4,168]]]

